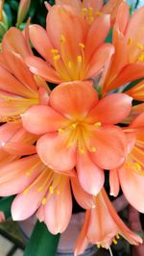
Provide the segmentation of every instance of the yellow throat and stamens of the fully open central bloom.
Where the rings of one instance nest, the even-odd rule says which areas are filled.
[[[78,147],[80,154],[84,154],[84,150],[95,152],[96,147],[91,144],[92,133],[101,127],[101,122],[88,124],[84,121],[70,123],[65,129],[59,129],[59,134],[66,135],[66,146]]]

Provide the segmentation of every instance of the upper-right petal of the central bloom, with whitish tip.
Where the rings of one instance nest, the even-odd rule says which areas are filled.
[[[115,124],[127,117],[131,109],[132,97],[124,93],[113,93],[101,99],[96,107],[89,112],[87,118],[93,122]]]

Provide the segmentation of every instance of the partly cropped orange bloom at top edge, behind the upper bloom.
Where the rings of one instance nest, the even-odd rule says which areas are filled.
[[[56,0],[58,5],[68,5],[81,15],[89,25],[102,13],[110,14],[111,22],[113,23],[118,11],[119,5],[123,0],[108,0],[108,3],[104,5],[103,0]]]

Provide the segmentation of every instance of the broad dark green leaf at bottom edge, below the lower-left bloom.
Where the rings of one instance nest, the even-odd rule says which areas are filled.
[[[24,256],[55,256],[59,240],[60,234],[52,235],[44,223],[37,221]]]

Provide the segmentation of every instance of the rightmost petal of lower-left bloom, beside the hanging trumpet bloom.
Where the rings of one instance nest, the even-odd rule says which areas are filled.
[[[81,207],[83,207],[84,209],[90,209],[94,207],[93,195],[84,192],[77,176],[71,178],[71,185],[75,199],[81,205]]]

